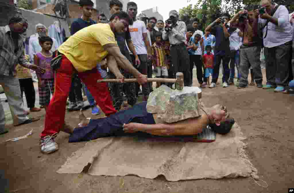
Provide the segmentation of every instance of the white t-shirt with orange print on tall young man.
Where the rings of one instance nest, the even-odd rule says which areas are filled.
[[[147,54],[143,38],[143,33],[148,33],[145,23],[143,21],[136,20],[134,21],[133,25],[129,26],[129,29],[136,53]]]

